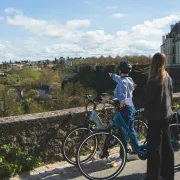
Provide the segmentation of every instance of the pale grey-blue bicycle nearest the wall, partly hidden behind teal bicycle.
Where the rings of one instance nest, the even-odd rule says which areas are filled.
[[[102,120],[99,117],[99,114],[96,112],[97,104],[95,100],[92,98],[92,95],[86,94],[84,95],[85,99],[85,109],[86,116],[89,115],[89,119],[85,119],[83,125],[79,125],[78,127],[72,129],[69,133],[66,134],[64,141],[62,143],[62,154],[67,162],[72,165],[76,165],[75,155],[76,149],[74,147],[78,147],[79,142],[83,137],[85,137],[88,133],[93,132],[95,128],[104,128],[105,124],[102,123]],[[88,113],[88,105],[92,103],[93,109],[91,113]],[[105,103],[103,103],[102,115],[106,118],[105,114]],[[72,144],[72,148],[70,148],[70,144]]]

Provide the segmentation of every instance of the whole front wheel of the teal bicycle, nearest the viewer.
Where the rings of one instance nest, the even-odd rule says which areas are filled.
[[[98,140],[96,152],[91,155],[92,152],[84,150],[84,144],[91,142],[94,138]],[[106,140],[115,139],[117,141],[115,146],[109,146],[109,142]],[[81,163],[86,156],[89,158],[86,163]],[[90,180],[106,179],[110,180],[118,176],[123,170],[126,164],[127,152],[124,143],[121,139],[111,134],[108,130],[98,130],[90,133],[79,144],[76,160],[77,165],[81,173]]]

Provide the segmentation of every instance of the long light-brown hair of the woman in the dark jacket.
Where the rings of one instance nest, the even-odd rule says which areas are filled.
[[[149,71],[148,81],[158,81],[160,84],[166,78],[166,55],[163,53],[156,53],[151,62],[151,67]]]

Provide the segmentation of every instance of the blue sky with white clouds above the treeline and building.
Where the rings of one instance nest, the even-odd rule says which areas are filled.
[[[179,0],[1,0],[0,61],[151,56]]]

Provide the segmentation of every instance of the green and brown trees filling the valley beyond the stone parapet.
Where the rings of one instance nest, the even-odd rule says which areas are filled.
[[[23,95],[22,99],[19,99],[15,95],[16,91],[10,90],[6,86],[0,87],[0,117],[83,106],[84,94],[89,93],[95,97],[102,92],[114,89],[115,83],[109,78],[108,72],[115,72],[113,65],[117,65],[119,61],[129,60],[134,64],[148,64],[150,62],[150,58],[145,56],[116,56],[114,58],[111,56],[101,56],[99,58],[68,57],[63,59],[73,61],[73,66],[68,67],[64,66],[60,59],[55,59],[54,61],[56,70],[43,68],[41,71],[31,69],[7,71],[8,76],[1,78],[0,83],[4,85],[19,85],[23,89]],[[44,64],[41,61],[41,65],[44,65],[44,67],[51,63],[53,62],[49,60],[44,61]],[[81,68],[80,72],[73,76],[71,82],[64,83],[64,81],[62,84],[63,77],[76,73],[76,65],[100,66],[97,66],[96,70],[90,66]],[[103,67],[101,65],[109,66]],[[140,71],[142,70],[135,67],[135,70],[133,69],[131,73],[135,77],[136,84],[139,84],[138,80],[142,79],[139,75],[142,74]],[[146,79],[144,78],[143,81],[146,81]],[[39,97],[39,88],[43,85],[49,85],[52,88],[52,91],[48,92],[48,96],[46,96],[48,97],[47,99]],[[136,88],[137,90],[138,87]]]

